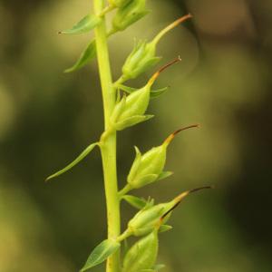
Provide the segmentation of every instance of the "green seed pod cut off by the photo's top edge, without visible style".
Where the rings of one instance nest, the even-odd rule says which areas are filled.
[[[112,31],[125,30],[131,24],[148,14],[146,0],[132,0],[128,5],[122,5],[112,20]]]

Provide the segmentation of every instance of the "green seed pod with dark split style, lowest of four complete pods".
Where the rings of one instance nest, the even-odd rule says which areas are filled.
[[[175,209],[182,199],[190,193],[196,192],[199,189],[209,189],[210,187],[201,187],[182,192],[175,199],[166,203],[153,205],[152,203],[141,209],[128,223],[128,232],[139,237],[146,235],[154,229],[160,229],[160,226],[170,219],[170,213]]]

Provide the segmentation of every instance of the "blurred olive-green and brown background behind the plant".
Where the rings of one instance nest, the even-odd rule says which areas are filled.
[[[272,271],[272,3],[269,0],[150,0],[152,13],[110,40],[114,78],[133,40],[151,39],[180,15],[193,20],[160,43],[170,91],[151,102],[156,118],[119,136],[119,177],[134,157],[180,126],[168,180],[135,191],[166,201],[203,185],[175,210],[161,234],[163,270]],[[90,35],[57,32],[92,8],[91,0],[0,2],[0,271],[72,272],[106,237],[99,151],[57,180],[44,178],[96,141],[102,98],[96,62],[64,74]],[[163,63],[162,62],[162,63]],[[131,86],[142,86],[151,73]],[[121,206],[123,222],[135,212]],[[93,268],[103,271],[103,266]]]

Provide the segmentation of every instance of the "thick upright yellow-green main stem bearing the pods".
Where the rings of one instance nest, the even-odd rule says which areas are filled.
[[[94,0],[94,11],[97,15],[105,7],[104,0]],[[102,100],[104,110],[105,131],[110,130],[110,117],[115,105],[116,91],[112,85],[112,72],[107,45],[105,18],[102,24],[95,29],[97,58],[102,84]],[[108,238],[117,238],[120,235],[120,201],[118,197],[117,170],[116,170],[116,131],[101,141],[102,166],[107,204]],[[107,261],[107,272],[120,271],[120,253],[117,252]]]

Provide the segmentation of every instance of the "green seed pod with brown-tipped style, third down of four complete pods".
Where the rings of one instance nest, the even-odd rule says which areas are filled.
[[[138,148],[136,148],[136,157],[132,163],[127,179],[131,189],[141,188],[154,182],[155,180],[160,180],[160,178],[163,176],[168,176],[165,175],[163,169],[165,166],[166,152],[170,141],[172,141],[175,135],[180,131],[194,127],[198,127],[198,125],[191,125],[189,127],[180,129],[179,131],[175,131],[174,133],[170,134],[170,136],[160,146],[152,148],[143,155],[141,155],[141,152],[138,150]]]

